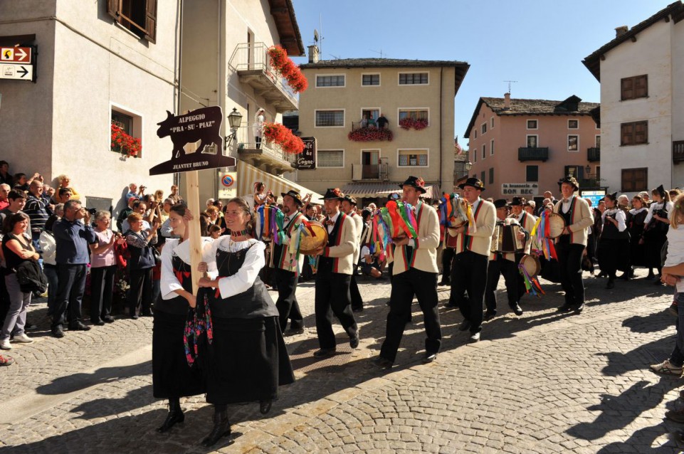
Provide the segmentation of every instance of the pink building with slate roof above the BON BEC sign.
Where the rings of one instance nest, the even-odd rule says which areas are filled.
[[[599,104],[580,101],[480,97],[465,137],[469,174],[485,183],[483,196],[539,203],[544,191],[558,196],[564,175],[577,178],[580,189],[601,186]]]

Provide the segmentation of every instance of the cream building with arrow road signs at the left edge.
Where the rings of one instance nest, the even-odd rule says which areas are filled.
[[[151,0],[111,3],[0,2],[0,46],[37,49],[35,83],[0,79],[0,159],[46,183],[68,174],[101,208],[116,206],[131,182],[169,193],[172,175],[150,177],[149,168],[169,159],[156,123],[178,99],[177,2],[151,11]],[[142,139],[142,157],[111,151],[112,121]]]

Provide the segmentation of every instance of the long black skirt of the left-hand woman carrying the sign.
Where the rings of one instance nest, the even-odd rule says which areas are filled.
[[[188,365],[183,344],[184,315],[154,311],[152,329],[152,393],[157,398],[204,394],[199,366]]]

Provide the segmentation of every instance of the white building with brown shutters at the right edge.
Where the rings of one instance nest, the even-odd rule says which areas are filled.
[[[602,177],[634,194],[684,186],[684,4],[675,1],[584,59],[601,83]]]

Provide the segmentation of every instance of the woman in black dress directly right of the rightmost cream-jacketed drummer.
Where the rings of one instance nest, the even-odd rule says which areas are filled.
[[[601,271],[608,275],[606,288],[613,288],[616,270],[629,260],[629,234],[625,213],[618,203],[618,193],[606,194],[604,200],[606,211],[601,215],[603,228],[596,254]]]

